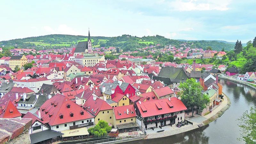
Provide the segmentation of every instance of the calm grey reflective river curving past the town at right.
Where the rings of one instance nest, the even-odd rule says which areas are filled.
[[[256,91],[242,84],[219,79],[224,92],[231,101],[230,108],[212,123],[193,131],[178,135],[126,142],[124,144],[240,144],[240,128],[237,118],[256,106]]]

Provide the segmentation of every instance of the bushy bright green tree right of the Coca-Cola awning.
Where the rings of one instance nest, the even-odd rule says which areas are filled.
[[[94,137],[98,137],[99,139],[105,138],[112,129],[111,126],[108,126],[108,123],[100,120],[95,127],[91,127],[88,129],[88,132],[94,135]]]

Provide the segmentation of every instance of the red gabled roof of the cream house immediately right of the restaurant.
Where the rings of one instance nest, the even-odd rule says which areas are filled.
[[[84,107],[87,107],[87,111],[92,115],[97,116],[101,110],[112,109],[112,107],[104,100],[96,98],[93,100],[93,95],[91,95],[84,103]]]

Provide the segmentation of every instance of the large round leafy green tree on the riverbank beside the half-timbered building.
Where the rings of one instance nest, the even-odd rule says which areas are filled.
[[[186,83],[179,85],[179,88],[181,91],[178,92],[178,96],[187,108],[191,107],[192,116],[194,116],[195,107],[202,112],[206,105],[210,103],[209,97],[202,93],[203,87],[194,78],[187,79]]]

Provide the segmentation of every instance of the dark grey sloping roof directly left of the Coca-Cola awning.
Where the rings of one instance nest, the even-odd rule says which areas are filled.
[[[31,140],[31,144],[33,143],[37,143],[40,141],[44,141],[44,140],[48,140],[57,136],[61,136],[63,133],[60,132],[56,132],[53,130],[44,130],[44,131],[40,131],[40,132],[36,132],[36,133],[32,133],[30,134],[30,140]]]

